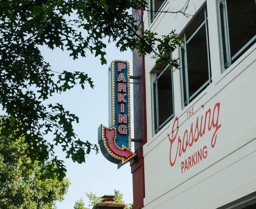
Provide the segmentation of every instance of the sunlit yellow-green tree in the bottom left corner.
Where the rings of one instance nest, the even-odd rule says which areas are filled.
[[[30,145],[32,146],[32,145]],[[0,208],[1,209],[50,209],[55,201],[63,200],[69,181],[59,181],[55,173],[49,178],[56,164],[47,161],[31,162],[26,154],[24,137],[16,140],[0,137]]]

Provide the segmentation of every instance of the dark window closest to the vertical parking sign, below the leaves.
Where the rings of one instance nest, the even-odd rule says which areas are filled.
[[[174,117],[172,70],[168,66],[152,71],[155,133]]]

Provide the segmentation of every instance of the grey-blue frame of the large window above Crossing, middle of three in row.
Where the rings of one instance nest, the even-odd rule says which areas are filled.
[[[184,37],[184,45],[180,48],[180,57],[181,57],[181,65],[182,69],[180,71],[181,73],[181,91],[182,91],[182,105],[183,108],[187,106],[189,103],[191,103],[192,100],[194,100],[198,94],[203,91],[208,85],[212,82],[212,74],[211,74],[211,60],[210,60],[210,48],[209,48],[209,33],[208,33],[208,15],[207,15],[207,7],[206,5],[202,6],[202,10],[204,10],[204,20],[202,23],[197,27],[197,29],[190,35],[188,40],[186,39],[186,32],[183,33]],[[197,14],[196,14],[197,15]],[[195,17],[196,17],[195,15]],[[192,19],[188,25],[185,27],[187,28],[190,25],[193,25],[195,19]],[[191,39],[194,38],[196,33],[205,26],[205,38],[206,38],[206,45],[207,45],[207,60],[208,60],[208,76],[209,79],[191,96],[189,96],[189,86],[188,86],[188,66],[187,66],[187,44]],[[184,88],[185,87],[185,88]]]

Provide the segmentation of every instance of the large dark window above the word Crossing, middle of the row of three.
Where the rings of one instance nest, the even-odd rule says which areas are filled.
[[[199,10],[184,29],[181,48],[183,105],[188,105],[211,83],[207,10]]]

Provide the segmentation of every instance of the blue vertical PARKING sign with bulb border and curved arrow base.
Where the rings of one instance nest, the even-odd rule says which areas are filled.
[[[100,125],[102,154],[118,168],[136,154],[131,151],[130,65],[114,60],[109,67],[109,127]]]

